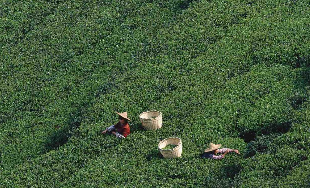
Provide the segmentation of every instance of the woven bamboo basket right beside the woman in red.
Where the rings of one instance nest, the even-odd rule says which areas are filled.
[[[150,110],[140,114],[139,118],[145,130],[155,130],[162,127],[162,112]]]

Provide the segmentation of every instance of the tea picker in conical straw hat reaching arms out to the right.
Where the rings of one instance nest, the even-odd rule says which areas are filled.
[[[223,159],[227,153],[235,152],[239,155],[239,151],[237,149],[229,149],[229,148],[222,148],[219,149],[222,146],[222,144],[213,144],[210,143],[209,148],[204,150],[204,154],[202,155],[202,158],[209,158],[209,159]],[[215,154],[222,153],[221,155],[217,156]]]

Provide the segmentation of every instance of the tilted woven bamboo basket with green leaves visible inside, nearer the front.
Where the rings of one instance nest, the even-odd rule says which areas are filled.
[[[162,149],[162,148],[166,147],[168,144],[173,144],[173,145],[177,145],[177,146],[173,149],[168,149],[168,150]],[[166,138],[158,144],[158,149],[164,158],[181,157],[182,148],[183,148],[182,141],[178,137]]]

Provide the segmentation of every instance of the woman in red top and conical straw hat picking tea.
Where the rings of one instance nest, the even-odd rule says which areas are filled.
[[[123,113],[116,112],[116,113],[119,115],[118,123],[106,128],[106,130],[102,131],[101,134],[105,134],[106,132],[111,132],[117,138],[126,138],[130,134],[128,120],[129,121],[131,120],[127,117],[127,112],[123,112]]]

